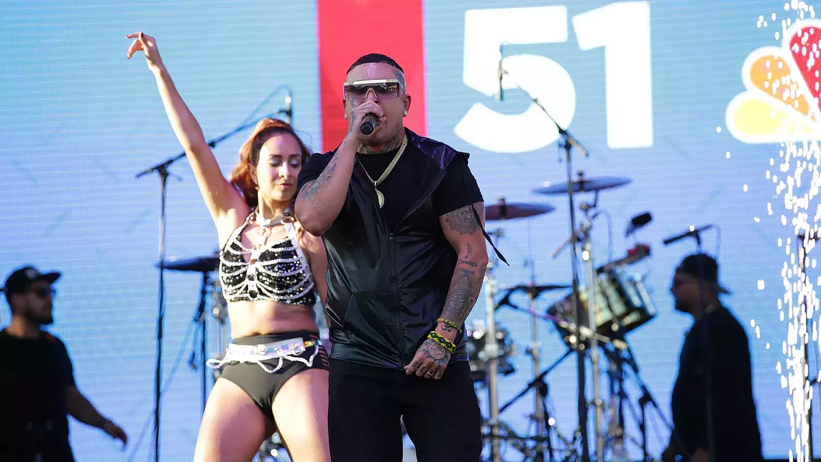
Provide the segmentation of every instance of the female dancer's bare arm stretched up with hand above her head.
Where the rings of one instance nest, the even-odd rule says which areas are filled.
[[[177,140],[180,141],[188,155],[197,185],[200,187],[205,205],[208,206],[214,222],[219,223],[230,210],[245,209],[247,207],[245,201],[231,183],[222,176],[217,159],[214,158],[208,142],[205,141],[200,124],[177,92],[171,76],[168,75],[163,60],[160,58],[156,39],[142,32],[126,35],[126,39],[135,39],[128,48],[127,58],[131,59],[139,50],[145,54],[145,61],[148,62],[149,69],[157,80],[157,88],[163,99],[168,121],[171,122]]]

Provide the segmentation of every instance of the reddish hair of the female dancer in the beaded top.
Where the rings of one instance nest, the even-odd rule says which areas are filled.
[[[259,205],[259,198],[257,196],[259,187],[255,184],[252,173],[255,171],[257,164],[259,164],[259,150],[262,149],[265,141],[268,141],[271,136],[277,133],[287,133],[296,139],[302,153],[302,165],[308,162],[308,158],[311,154],[308,147],[305,146],[305,143],[296,135],[294,127],[291,127],[289,123],[279,120],[278,118],[264,118],[257,122],[256,127],[254,127],[254,132],[251,133],[248,141],[245,141],[245,144],[240,148],[240,162],[236,164],[231,174],[228,175],[228,181],[239,190],[242,198],[245,199],[245,203],[252,209]],[[296,200],[296,196],[294,196],[294,199]]]

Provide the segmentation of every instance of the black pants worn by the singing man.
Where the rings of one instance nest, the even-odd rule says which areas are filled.
[[[401,462],[405,424],[420,462],[479,462],[482,415],[468,363],[442,378],[331,360],[328,438],[333,462]]]

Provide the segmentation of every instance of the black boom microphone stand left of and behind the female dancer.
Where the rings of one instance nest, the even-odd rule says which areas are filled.
[[[284,113],[285,111],[279,110],[277,113]],[[265,117],[270,117],[268,116]],[[218,138],[214,138],[213,140],[209,141],[208,146],[216,147],[222,141],[227,140],[228,138],[236,135],[239,132],[242,132],[246,128],[254,127],[256,122],[253,123],[244,123],[241,124],[239,127],[236,127],[231,132],[227,132],[225,135],[219,136]],[[148,169],[144,169],[142,172],[137,173],[135,178],[141,178],[149,173],[156,172],[158,174],[160,180],[160,212],[159,212],[159,281],[158,281],[158,309],[157,309],[157,366],[154,371],[154,462],[159,462],[159,427],[160,427],[160,396],[162,395],[162,383],[163,383],[163,323],[165,318],[165,224],[166,224],[166,197],[167,197],[167,181],[168,176],[171,174],[168,172],[168,167],[172,164],[177,162],[177,160],[182,159],[186,156],[186,151],[182,151],[180,154],[173,156],[156,164]],[[177,177],[178,179],[181,179]]]

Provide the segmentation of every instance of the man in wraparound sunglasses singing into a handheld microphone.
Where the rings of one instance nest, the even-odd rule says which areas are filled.
[[[402,68],[368,54],[344,84],[348,132],[300,172],[296,215],[328,252],[334,462],[479,460],[464,322],[488,263],[468,155],[403,126]],[[373,132],[360,130],[371,122]]]

